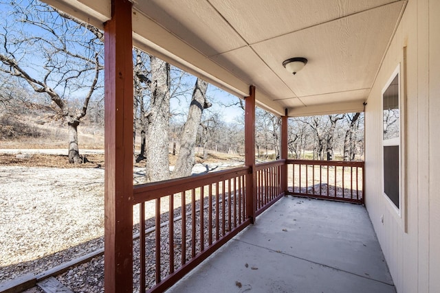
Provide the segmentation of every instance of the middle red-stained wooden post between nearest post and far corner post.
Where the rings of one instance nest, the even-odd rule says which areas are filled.
[[[255,170],[255,86],[250,86],[249,97],[245,97],[245,165],[252,173],[246,176],[246,213],[250,222],[255,222],[256,170]]]

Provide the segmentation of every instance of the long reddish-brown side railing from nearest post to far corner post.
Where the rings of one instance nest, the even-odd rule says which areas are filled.
[[[134,290],[164,291],[248,226],[250,201],[256,200],[259,215],[283,196],[284,163],[256,165],[255,195],[245,186],[251,167],[136,185],[140,237],[133,242]],[[147,206],[155,209],[152,218],[146,218]]]

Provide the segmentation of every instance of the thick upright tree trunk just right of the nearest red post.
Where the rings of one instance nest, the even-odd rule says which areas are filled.
[[[151,110],[146,116],[146,181],[170,178],[168,130],[170,124],[170,65],[151,56]]]

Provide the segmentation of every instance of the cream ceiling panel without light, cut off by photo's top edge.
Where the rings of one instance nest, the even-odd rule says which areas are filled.
[[[391,2],[393,0],[210,0],[248,43],[257,43]],[[259,29],[255,30],[256,27]]]

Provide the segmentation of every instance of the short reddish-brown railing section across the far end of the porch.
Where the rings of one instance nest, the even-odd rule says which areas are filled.
[[[287,194],[364,203],[364,162],[287,160]]]

